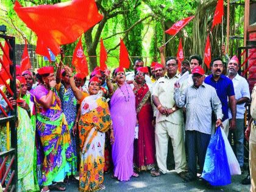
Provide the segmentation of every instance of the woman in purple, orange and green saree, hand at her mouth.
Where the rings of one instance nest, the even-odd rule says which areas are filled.
[[[38,69],[44,84],[34,90],[37,107],[37,132],[43,147],[43,169],[41,191],[65,190],[59,183],[70,175],[70,163],[73,159],[68,123],[61,109],[60,98],[55,90],[54,68],[52,66]]]

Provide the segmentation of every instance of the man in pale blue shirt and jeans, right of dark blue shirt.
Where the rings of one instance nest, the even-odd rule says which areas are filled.
[[[249,84],[244,77],[241,77],[238,74],[239,62],[236,56],[233,56],[230,59],[227,70],[229,79],[232,80],[235,99],[236,99],[236,129],[230,130],[229,138],[233,133],[235,141],[235,154],[238,160],[240,167],[243,169],[244,166],[244,112],[246,108],[244,107],[245,103],[250,101],[250,91]],[[229,108],[229,119],[232,118],[230,108]]]

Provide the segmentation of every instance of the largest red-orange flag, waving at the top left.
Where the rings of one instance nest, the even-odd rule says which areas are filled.
[[[58,55],[61,44],[73,43],[103,18],[94,0],[73,0],[34,7],[22,7],[15,1],[13,9],[37,34],[37,54],[49,60],[48,48]]]

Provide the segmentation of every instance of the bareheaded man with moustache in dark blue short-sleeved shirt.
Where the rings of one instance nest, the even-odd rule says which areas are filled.
[[[205,84],[211,85],[215,88],[219,100],[221,100],[222,105],[222,124],[224,132],[227,137],[229,135],[229,129],[233,130],[236,127],[236,100],[235,100],[235,91],[233,87],[233,82],[228,77],[222,74],[223,63],[221,58],[213,59],[211,63],[212,74],[206,77],[204,82]],[[229,102],[227,101],[229,99]],[[229,105],[232,118],[229,122]],[[214,126],[215,127],[215,126]],[[214,129],[213,129],[214,130]]]

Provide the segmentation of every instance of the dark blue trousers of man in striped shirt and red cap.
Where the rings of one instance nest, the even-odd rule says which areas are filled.
[[[211,134],[201,133],[196,130],[186,130],[188,148],[188,173],[196,178],[196,162],[198,160],[200,171],[204,168],[205,154],[210,142]]]

